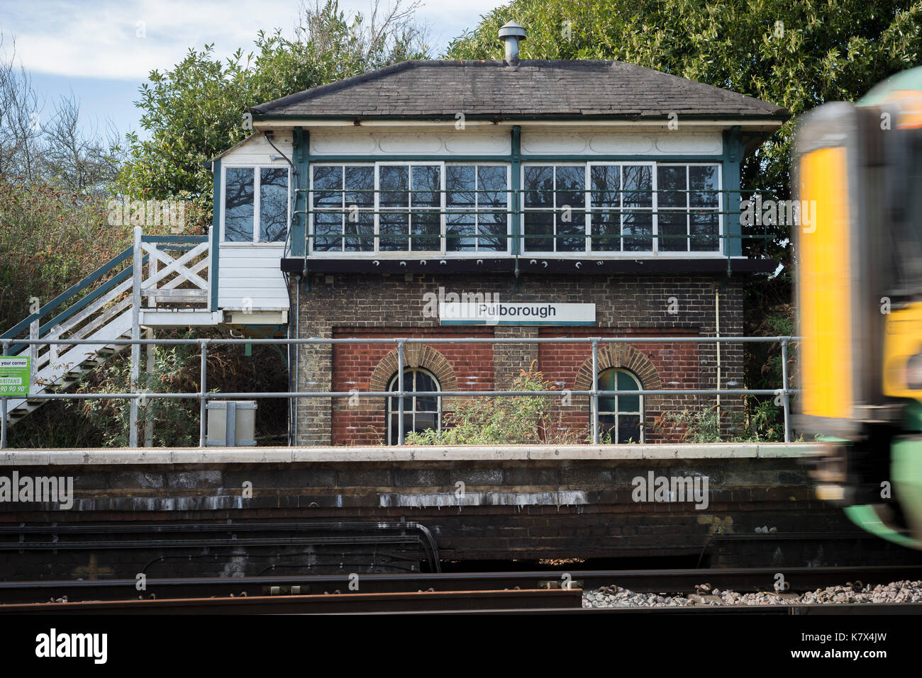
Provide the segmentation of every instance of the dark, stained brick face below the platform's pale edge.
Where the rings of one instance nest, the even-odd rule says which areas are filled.
[[[2,474],[13,470],[7,466]],[[77,463],[18,472],[73,477],[74,504],[70,510],[4,504],[0,545],[9,556],[0,559],[3,579],[394,571],[420,562],[419,544],[325,544],[337,532],[320,530],[361,521],[373,540],[382,536],[381,521],[403,517],[426,526],[442,558],[454,561],[690,555],[703,556],[703,567],[818,567],[919,560],[812,498],[796,458],[408,462],[383,456],[380,462]],[[634,479],[648,473],[706,476],[707,507],[638,502]],[[288,521],[287,532],[272,528]],[[189,523],[222,530],[190,532],[184,529]],[[14,529],[20,524],[58,531],[24,535]],[[247,524],[265,529],[242,531]],[[69,525],[84,532],[62,529]],[[777,532],[755,532],[763,526]],[[805,539],[805,532],[822,536]],[[311,535],[316,544],[288,539]],[[266,544],[250,544],[251,538]],[[189,545],[160,544],[180,539]],[[52,540],[54,555],[41,547]],[[112,547],[121,540],[148,545]],[[201,544],[208,540],[230,543]],[[387,554],[403,565],[378,562]]]

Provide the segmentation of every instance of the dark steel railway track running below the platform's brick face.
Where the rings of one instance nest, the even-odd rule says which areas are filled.
[[[349,576],[305,575],[241,578],[192,578],[192,579],[89,579],[48,581],[5,581],[0,582],[0,614],[25,611],[19,606],[41,604],[47,607],[50,601],[69,609],[77,609],[79,603],[136,605],[137,609],[154,609],[165,601],[186,601],[189,605],[213,606],[216,602],[228,601],[231,607],[241,610],[248,605],[258,607],[255,600],[272,601],[293,599],[330,601],[334,598],[347,600],[345,596],[417,594],[418,592],[448,595],[446,600],[458,597],[489,594],[502,596],[503,590],[511,590],[511,597],[521,591],[554,591],[594,589],[617,585],[634,591],[694,593],[696,587],[707,583],[710,587],[738,591],[773,590],[778,581],[778,568],[735,568],[735,569],[679,569],[679,570],[557,570],[533,572],[476,572],[476,573],[401,573],[364,574]],[[886,584],[899,579],[922,579],[922,567],[797,567],[782,568],[780,574],[791,591],[814,590],[832,585],[860,580],[862,584]],[[492,591],[492,593],[490,593]],[[518,591],[518,592],[516,592]],[[138,600],[142,599],[142,600]],[[239,603],[244,600],[245,602]],[[354,601],[364,599],[351,598]],[[369,599],[371,600],[371,599]],[[384,598],[384,601],[403,600]],[[427,600],[436,600],[429,598]],[[554,599],[556,600],[556,599]],[[195,603],[193,603],[195,601]],[[284,607],[285,602],[278,603]],[[290,604],[295,604],[294,602]],[[321,604],[320,602],[317,603]],[[341,604],[330,602],[330,605]],[[906,603],[903,603],[906,604]],[[16,608],[12,606],[17,606]],[[171,603],[175,612],[179,603]],[[168,605],[167,607],[170,607]],[[295,605],[297,607],[297,605]],[[322,605],[321,605],[322,607]],[[526,606],[533,608],[534,605]],[[553,606],[550,606],[553,607]],[[579,607],[579,605],[577,605]],[[779,606],[785,607],[785,606]],[[836,607],[840,607],[837,605]],[[526,609],[522,608],[522,609]],[[881,605],[875,609],[883,611]],[[93,608],[89,609],[99,609]],[[129,607],[127,609],[134,609]],[[205,609],[204,607],[202,609]],[[318,608],[320,609],[320,608]],[[446,608],[448,609],[448,608]],[[460,608],[451,608],[460,609]],[[113,608],[114,610],[114,608]],[[398,612],[400,610],[394,610]],[[412,610],[411,610],[412,611]]]

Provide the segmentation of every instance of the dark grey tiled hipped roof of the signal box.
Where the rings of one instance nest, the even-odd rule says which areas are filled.
[[[786,109],[618,61],[407,61],[252,109],[286,116],[784,120]]]

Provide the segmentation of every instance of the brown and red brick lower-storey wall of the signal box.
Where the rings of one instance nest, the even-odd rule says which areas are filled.
[[[720,295],[720,333],[742,333],[741,277],[722,275],[648,275],[539,277],[523,275],[516,289],[511,275],[313,275],[311,289],[301,290],[301,337],[368,336],[695,336],[714,335],[717,329],[715,295]],[[597,327],[538,328],[535,326],[442,327],[427,313],[426,294],[484,293],[505,302],[554,301],[595,303]],[[519,369],[538,360],[538,369],[561,388],[573,389],[579,369],[590,356],[588,345],[432,345],[447,359],[457,378],[458,390],[508,388]],[[715,345],[668,343],[635,345],[663,389],[715,389]],[[393,346],[357,345],[335,348],[301,346],[298,389],[310,392],[368,390],[374,369]],[[379,370],[380,371],[380,370]],[[387,377],[396,372],[396,367]],[[742,345],[720,347],[720,381],[723,388],[741,388]],[[646,380],[644,387],[653,388]],[[444,385],[443,385],[444,389]],[[448,390],[448,389],[444,389]],[[303,398],[298,403],[298,444],[374,444],[384,441],[384,399]],[[665,427],[655,434],[652,425],[664,411],[703,409],[715,404],[714,396],[666,396],[648,399],[645,424],[648,440],[680,437]],[[740,410],[738,399],[724,397],[725,411]],[[445,403],[451,409],[452,403]],[[586,399],[573,399],[560,414],[566,426],[586,427]],[[725,433],[727,425],[724,426]]]

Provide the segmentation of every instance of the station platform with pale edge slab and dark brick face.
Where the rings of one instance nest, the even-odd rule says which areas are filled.
[[[0,504],[0,550],[20,552],[0,558],[0,578],[134,577],[155,561],[150,576],[167,564],[242,576],[411,571],[434,560],[918,562],[813,496],[802,459],[814,447],[11,450],[0,478],[72,478],[73,497],[70,509]]]

